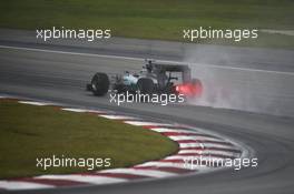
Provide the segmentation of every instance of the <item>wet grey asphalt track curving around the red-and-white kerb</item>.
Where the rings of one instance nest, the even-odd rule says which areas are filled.
[[[47,47],[50,49],[49,45]],[[95,71],[116,73],[129,69],[138,70],[140,65],[139,61],[131,59],[0,49],[0,93],[84,108],[110,109],[209,129],[249,145],[258,156],[258,169],[226,170],[213,174],[129,184],[47,190],[42,193],[283,194],[294,192],[294,119],[291,116],[190,105],[117,106],[110,104],[108,98],[95,98],[85,91],[85,84]],[[284,84],[288,88],[293,82]],[[277,95],[283,96],[283,93]]]

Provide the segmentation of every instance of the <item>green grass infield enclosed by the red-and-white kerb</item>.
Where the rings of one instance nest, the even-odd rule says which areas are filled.
[[[38,157],[110,157],[111,167],[157,160],[177,151],[167,137],[85,113],[0,101],[0,178],[85,172],[78,167],[36,167]],[[99,170],[99,169],[96,169]]]

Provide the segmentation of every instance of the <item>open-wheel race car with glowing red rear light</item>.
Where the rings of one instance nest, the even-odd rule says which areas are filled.
[[[203,91],[202,82],[190,78],[188,65],[156,63],[146,60],[145,67],[138,73],[126,71],[124,74],[110,76],[102,72],[97,72],[91,82],[87,84],[87,90],[95,95],[105,95],[109,89],[117,93],[175,93],[188,98],[200,96]]]

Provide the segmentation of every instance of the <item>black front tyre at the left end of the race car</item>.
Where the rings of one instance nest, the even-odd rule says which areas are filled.
[[[106,73],[96,73],[91,79],[91,91],[94,95],[105,95],[109,89],[109,79]]]

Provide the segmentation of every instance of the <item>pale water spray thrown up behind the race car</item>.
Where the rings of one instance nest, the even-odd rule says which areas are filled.
[[[275,111],[272,106],[273,102],[264,101],[256,92],[261,90],[256,83],[257,80],[261,81],[262,73],[232,68],[238,61],[242,60],[234,52],[234,48],[224,51],[217,45],[188,48],[185,51],[184,62],[190,64],[192,75],[202,80],[205,89],[202,98],[190,99],[189,103],[249,112]]]

